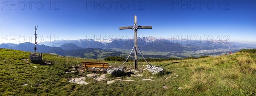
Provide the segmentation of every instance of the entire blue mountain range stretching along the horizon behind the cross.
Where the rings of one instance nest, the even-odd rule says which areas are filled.
[[[80,40],[59,40],[55,41],[58,43],[49,44],[45,41],[37,45],[37,52],[52,53],[57,55],[68,55],[76,56],[81,58],[104,58],[106,56],[116,55],[121,56],[122,52],[109,51],[108,49],[132,49],[134,47],[134,39],[128,40],[106,40],[106,42],[94,41],[93,39],[80,39]],[[193,42],[193,41],[192,41]],[[236,43],[236,42],[234,42]],[[139,37],[138,47],[145,51],[157,51],[157,52],[173,52],[173,53],[183,53],[183,51],[199,51],[199,50],[212,50],[212,49],[229,49],[238,47],[248,47],[246,44],[236,43],[238,45],[232,44],[230,42],[224,41],[197,41],[194,43],[185,42],[179,43],[179,41],[172,41],[165,38],[155,38],[153,36],[149,37]],[[0,44],[0,48],[7,49],[18,49],[27,52],[34,52],[35,44],[26,42],[21,44]],[[252,47],[253,48],[253,47]],[[108,50],[108,51],[106,51]],[[157,57],[161,57],[160,55]],[[166,58],[166,57],[163,57]]]

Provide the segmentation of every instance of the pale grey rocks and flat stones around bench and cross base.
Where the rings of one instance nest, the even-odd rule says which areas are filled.
[[[143,72],[145,71],[150,71],[152,72],[152,74],[156,74],[156,71],[154,71],[153,69],[160,69],[157,70],[159,71],[163,71],[163,69],[161,68],[156,68],[156,66],[153,66],[152,68],[150,68],[150,66],[143,66],[143,68],[139,68],[139,69],[134,69],[131,68],[129,66],[125,66],[122,68],[122,76],[111,76],[111,74],[108,74],[106,70],[111,70],[111,69],[118,69],[118,67],[112,67],[109,66],[108,68],[105,69],[105,74],[103,74],[103,69],[101,69],[101,71],[99,73],[87,73],[85,74],[84,77],[79,77],[79,78],[71,78],[69,80],[69,82],[72,83],[76,83],[79,85],[87,85],[90,84],[90,82],[86,82],[86,79],[94,79],[97,81],[105,81],[106,84],[111,84],[115,81],[124,81],[124,82],[133,82],[134,80],[132,80],[132,78],[136,78],[136,77],[143,77]],[[78,66],[72,66],[73,71],[70,71],[71,73],[76,73],[76,72],[80,72],[84,74],[84,68],[82,65],[78,65]],[[90,68],[91,71],[96,72],[99,71],[99,68],[95,68],[92,67]],[[141,79],[142,81],[154,81],[154,77],[147,77],[148,79]],[[166,78],[168,79],[168,78]]]

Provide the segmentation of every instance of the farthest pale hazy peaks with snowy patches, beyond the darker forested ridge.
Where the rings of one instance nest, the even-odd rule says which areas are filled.
[[[45,41],[41,44],[51,46],[51,47],[61,47],[63,44],[75,44],[77,47],[70,47],[67,49],[79,49],[81,48],[102,48],[102,49],[131,49],[134,47],[134,39],[110,39],[102,42],[94,41],[93,39],[80,39],[80,40],[58,40],[57,44],[50,43]],[[66,45],[74,46],[74,45]],[[218,48],[236,48],[235,44],[224,41],[172,41],[171,39],[166,38],[155,38],[153,36],[149,37],[138,37],[138,47],[143,50],[155,50],[155,51],[177,51],[182,52],[182,50],[188,51],[198,51],[204,49],[218,49]],[[64,48],[64,47],[62,47]]]

